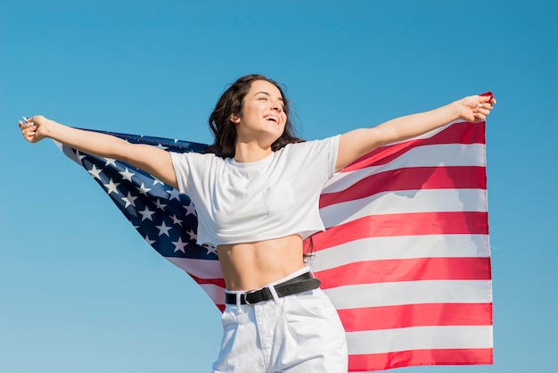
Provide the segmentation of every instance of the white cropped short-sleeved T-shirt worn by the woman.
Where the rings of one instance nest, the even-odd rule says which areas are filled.
[[[198,215],[198,243],[226,245],[324,230],[319,196],[335,173],[339,137],[284,146],[258,162],[171,153]]]

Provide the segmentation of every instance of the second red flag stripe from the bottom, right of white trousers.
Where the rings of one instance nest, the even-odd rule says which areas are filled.
[[[398,327],[492,325],[492,303],[419,303],[338,310],[347,332]]]

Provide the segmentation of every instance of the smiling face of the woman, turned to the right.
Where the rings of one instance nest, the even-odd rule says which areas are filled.
[[[266,80],[256,80],[244,96],[243,104],[240,117],[231,116],[237,141],[257,141],[260,146],[270,147],[283,134],[287,121],[281,91]]]

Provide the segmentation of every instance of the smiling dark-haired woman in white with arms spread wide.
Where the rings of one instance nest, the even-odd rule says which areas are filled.
[[[20,121],[35,143],[51,137],[119,159],[187,194],[198,212],[198,243],[217,245],[226,280],[224,336],[214,372],[344,372],[348,353],[337,312],[303,261],[303,240],[324,229],[324,183],[381,145],[452,121],[481,121],[496,101],[472,95],[452,104],[303,142],[292,135],[288,101],[271,79],[238,79],[209,118],[205,154],[168,153],[35,116]]]

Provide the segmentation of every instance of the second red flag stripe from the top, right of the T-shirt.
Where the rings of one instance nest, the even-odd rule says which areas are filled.
[[[486,189],[484,167],[415,167],[371,175],[336,193],[320,196],[320,208],[365,198],[382,192],[417,189]]]

